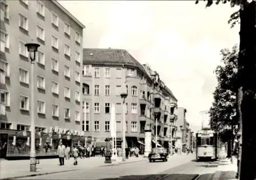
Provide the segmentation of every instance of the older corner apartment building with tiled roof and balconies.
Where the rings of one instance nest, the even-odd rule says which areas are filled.
[[[177,99],[148,65],[141,65],[126,50],[83,49],[82,82],[86,114],[83,114],[83,130],[87,136],[99,141],[111,136],[110,113],[114,104],[117,146],[121,147],[123,99],[120,94],[125,92],[125,144],[129,147],[144,144],[144,130],[151,129],[154,136],[158,120],[158,143],[168,147],[170,122],[176,122]]]

